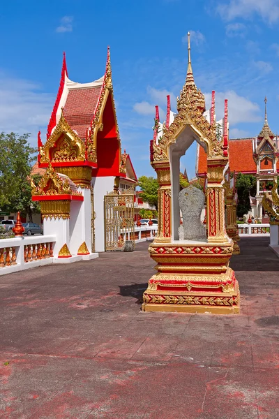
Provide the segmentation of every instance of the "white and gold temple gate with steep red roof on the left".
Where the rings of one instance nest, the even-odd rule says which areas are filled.
[[[89,83],[68,78],[66,56],[59,90],[38,165],[45,170],[33,200],[40,202],[44,233],[55,231],[54,256],[70,258],[106,249],[105,196],[135,194],[137,176],[129,154],[121,153],[112,87],[110,49],[103,77]],[[114,198],[112,198],[114,199]],[[121,217],[115,219],[120,222]]]

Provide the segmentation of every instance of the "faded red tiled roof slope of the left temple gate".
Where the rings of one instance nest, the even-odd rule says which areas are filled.
[[[90,126],[101,89],[102,86],[96,86],[68,91],[64,115],[80,138],[85,138],[86,128]]]

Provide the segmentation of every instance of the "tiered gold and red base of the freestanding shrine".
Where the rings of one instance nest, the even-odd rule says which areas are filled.
[[[233,242],[154,243],[158,265],[143,295],[143,311],[239,314],[239,283],[228,266]]]

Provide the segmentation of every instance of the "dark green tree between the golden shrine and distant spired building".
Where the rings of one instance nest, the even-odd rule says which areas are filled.
[[[239,173],[236,177],[237,207],[236,215],[243,217],[251,210],[249,196],[255,196],[257,192],[257,181],[253,175]]]

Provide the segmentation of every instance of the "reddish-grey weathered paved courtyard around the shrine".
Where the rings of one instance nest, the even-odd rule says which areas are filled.
[[[279,258],[232,258],[239,316],[144,313],[147,243],[0,277],[0,418],[279,418]]]

